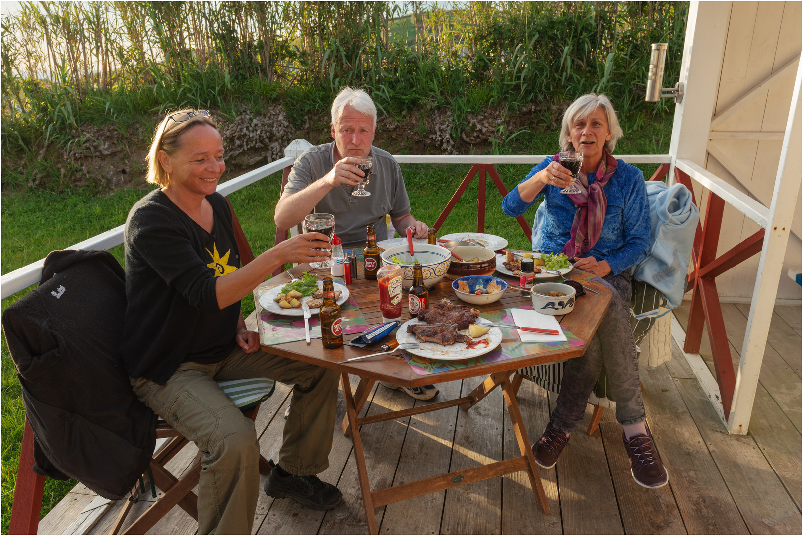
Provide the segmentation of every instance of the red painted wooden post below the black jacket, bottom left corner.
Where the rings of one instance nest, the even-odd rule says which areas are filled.
[[[34,431],[31,430],[28,419],[25,419],[8,534],[36,534],[39,528],[39,512],[42,510],[45,477],[31,470],[35,463]]]

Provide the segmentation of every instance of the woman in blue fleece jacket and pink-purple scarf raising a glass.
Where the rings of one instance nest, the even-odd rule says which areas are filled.
[[[636,482],[646,488],[666,485],[669,476],[655,452],[646,428],[638,381],[638,358],[630,329],[630,267],[650,247],[650,211],[641,170],[611,156],[622,128],[613,104],[604,95],[589,93],[566,108],[560,129],[560,150],[581,151],[580,194],[560,190],[574,182],[557,155],[544,159],[505,196],[503,211],[524,214],[544,194],[541,252],[564,252],[574,267],[601,277],[613,290],[613,300],[585,354],[569,359],[555,411],[532,452],[544,468],[556,464],[585,414],[585,404],[604,363],[608,371],[616,416]]]

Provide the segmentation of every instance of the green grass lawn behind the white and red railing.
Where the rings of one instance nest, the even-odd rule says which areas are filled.
[[[666,153],[669,145],[672,118],[641,123],[626,128],[632,134],[617,147],[617,153]],[[525,133],[516,138],[515,145],[503,153],[547,154],[554,149],[556,133]],[[657,165],[639,166],[646,177]],[[508,190],[511,190],[530,170],[531,166],[496,166]],[[413,214],[424,223],[432,224],[446,206],[454,190],[471,166],[442,164],[412,164],[402,166],[410,194]],[[271,248],[275,239],[273,211],[279,199],[281,174],[245,187],[230,195],[234,211],[243,226],[255,254]],[[145,190],[118,190],[113,194],[95,195],[88,191],[70,191],[54,194],[42,190],[2,195],[2,273],[8,273],[47,256],[54,249],[88,239],[102,231],[125,223],[129,208],[145,195]],[[467,188],[438,235],[458,231],[475,231],[477,227],[478,181]],[[490,178],[487,179],[485,231],[507,238],[512,248],[528,248],[530,240],[524,235],[515,219],[502,213],[501,195]],[[524,214],[532,223],[536,207]],[[123,263],[123,248],[110,250]],[[24,296],[23,290],[2,301],[5,309]],[[243,314],[254,309],[251,296],[243,299]],[[25,413],[20,399],[20,386],[14,365],[2,343],[2,532],[8,533],[11,502],[18,469],[19,447]],[[47,480],[42,515],[58,503],[75,481]]]

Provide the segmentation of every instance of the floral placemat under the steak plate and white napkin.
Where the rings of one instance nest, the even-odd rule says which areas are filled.
[[[519,309],[532,309],[532,306],[525,305]],[[488,320],[499,322],[502,324],[514,324],[512,309],[502,309],[497,313],[483,314],[483,317]],[[563,326],[561,326],[563,328]],[[567,350],[575,346],[583,346],[585,343],[579,338],[575,337],[568,329],[563,328],[566,334],[567,342],[536,342],[524,343],[519,338],[519,333],[513,328],[499,328],[502,330],[502,342],[487,354],[481,355],[477,358],[466,359],[465,361],[441,361],[434,359],[421,358],[417,355],[402,352],[402,357],[407,360],[407,363],[412,367],[416,374],[426,375],[434,374],[436,372],[445,372],[446,370],[463,369],[467,366],[481,365],[485,363],[494,363],[498,361],[505,361],[507,359],[521,358],[525,355],[541,354],[543,352],[551,352],[552,350]]]

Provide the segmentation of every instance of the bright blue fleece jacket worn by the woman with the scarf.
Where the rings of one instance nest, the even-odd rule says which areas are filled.
[[[522,182],[543,170],[549,162],[552,162],[552,158],[545,158],[544,162],[530,170]],[[647,206],[644,175],[637,167],[622,160],[618,162],[616,171],[605,184],[608,211],[605,212],[600,238],[584,254],[597,260],[607,260],[614,275],[640,263],[650,248],[650,208]],[[589,184],[594,182],[595,176],[588,174]],[[560,253],[569,240],[577,207],[568,195],[560,193],[557,186],[544,186],[541,192],[545,196],[546,208],[543,229],[538,231],[542,237],[541,251]],[[524,214],[533,204],[535,199],[532,203],[522,200],[516,186],[502,200],[502,210],[506,215],[515,217]]]

